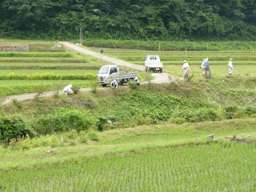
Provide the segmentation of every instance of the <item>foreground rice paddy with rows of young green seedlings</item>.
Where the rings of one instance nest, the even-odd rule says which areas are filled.
[[[10,170],[0,184],[6,191],[254,191],[255,155],[246,143],[182,146]]]

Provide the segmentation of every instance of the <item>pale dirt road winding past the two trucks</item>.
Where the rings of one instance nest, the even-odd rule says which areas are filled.
[[[137,69],[137,70],[144,70],[145,69],[143,66],[138,66],[138,65],[135,65],[133,63],[129,63],[129,62],[126,62],[126,61],[111,58],[111,57],[108,57],[106,55],[87,50],[84,47],[76,46],[76,45],[71,44],[69,42],[60,42],[60,43],[65,45],[66,47],[69,47],[70,49],[75,50],[75,51],[85,53],[85,54],[89,54],[89,55],[92,55],[96,58],[103,59],[103,60],[109,61],[109,62],[114,63],[114,64],[134,68],[134,69]],[[161,73],[153,73],[152,76],[154,77],[154,80],[151,81],[152,83],[166,83],[166,82],[169,82],[169,74],[167,74],[167,73],[162,73],[162,74]],[[102,89],[102,87],[98,87],[98,89]],[[90,91],[90,90],[91,90],[91,88],[81,89],[81,91]],[[12,99],[17,99],[18,101],[33,99],[33,98],[35,98],[36,94],[37,93],[12,95],[12,96],[6,98],[2,103],[3,104],[10,103],[12,101]],[[40,97],[47,97],[47,96],[51,96],[51,95],[54,95],[54,94],[55,94],[55,91],[49,91],[49,92],[45,92],[45,93],[41,94]],[[63,94],[63,92],[59,91],[59,94]]]

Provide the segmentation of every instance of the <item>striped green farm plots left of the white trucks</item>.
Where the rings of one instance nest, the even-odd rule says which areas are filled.
[[[52,91],[67,84],[90,87],[102,63],[73,52],[2,52],[0,95]]]

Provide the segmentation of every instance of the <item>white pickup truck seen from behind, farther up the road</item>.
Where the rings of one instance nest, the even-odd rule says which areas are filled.
[[[159,55],[147,55],[145,59],[145,69],[146,71],[153,70],[163,73],[163,63],[161,63]]]

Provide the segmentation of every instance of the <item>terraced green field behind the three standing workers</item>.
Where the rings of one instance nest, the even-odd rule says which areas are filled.
[[[99,51],[100,48],[91,48]],[[185,52],[185,51],[145,51],[129,49],[105,49],[103,54],[121,60],[129,61],[137,65],[144,65],[145,57],[148,54],[158,54],[164,63],[164,71],[170,74],[182,76],[179,69],[183,60],[190,64],[190,72],[195,77],[201,76],[202,70],[199,69],[204,58],[209,58],[213,76],[228,74],[227,63],[230,58],[234,59],[234,75],[255,75],[256,74],[256,52],[248,51],[225,51],[225,52]]]

